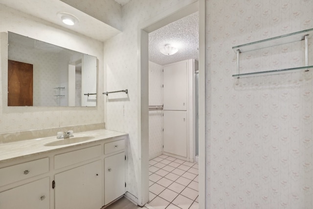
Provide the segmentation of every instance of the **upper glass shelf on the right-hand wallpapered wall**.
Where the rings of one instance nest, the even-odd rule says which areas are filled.
[[[288,44],[296,41],[304,40],[305,35],[313,35],[313,28],[308,30],[302,30],[295,33],[290,33],[282,36],[277,36],[257,42],[252,42],[244,45],[233,46],[233,50],[237,53],[239,49],[240,52],[252,51],[256,49],[266,48],[269,46],[277,46],[282,44]]]

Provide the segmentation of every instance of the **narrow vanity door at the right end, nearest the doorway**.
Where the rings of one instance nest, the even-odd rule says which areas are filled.
[[[125,194],[125,152],[104,159],[104,204]]]

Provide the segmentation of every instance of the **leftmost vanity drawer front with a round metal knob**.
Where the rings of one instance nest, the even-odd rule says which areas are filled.
[[[0,169],[0,186],[8,185],[49,171],[49,158],[21,163]]]

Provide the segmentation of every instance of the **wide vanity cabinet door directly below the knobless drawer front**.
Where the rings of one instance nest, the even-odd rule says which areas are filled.
[[[55,175],[55,209],[102,207],[101,160]]]

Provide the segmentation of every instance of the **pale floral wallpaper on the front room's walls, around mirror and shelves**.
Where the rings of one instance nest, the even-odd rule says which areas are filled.
[[[97,108],[79,111],[7,108],[1,100],[0,132],[101,122],[104,98],[107,128],[130,135],[127,190],[137,196],[137,25],[178,3],[181,0],[132,0],[124,5],[124,31],[105,43],[104,56],[97,41],[1,7],[1,32],[29,34],[95,55],[98,92],[128,89],[129,94],[99,96]],[[207,208],[313,208],[312,72],[231,77],[236,69],[232,46],[312,28],[312,11],[312,0],[206,0]],[[1,57],[6,54],[3,48]],[[252,52],[259,60],[242,54],[242,69],[297,65],[303,62],[300,48],[291,44]],[[272,56],[264,59],[268,53]],[[1,99],[6,65],[1,59]]]

